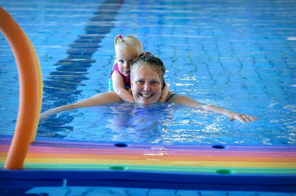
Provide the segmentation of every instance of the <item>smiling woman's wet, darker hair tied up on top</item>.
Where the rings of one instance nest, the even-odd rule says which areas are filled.
[[[139,57],[135,58],[131,62],[131,83],[133,83],[133,79],[136,73],[144,67],[149,67],[151,70],[155,71],[160,78],[160,82],[162,83],[162,89],[165,87],[165,66],[163,65],[162,60],[152,55],[150,52],[142,52]]]

